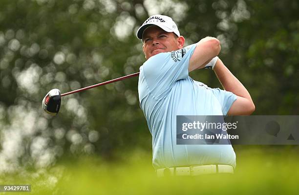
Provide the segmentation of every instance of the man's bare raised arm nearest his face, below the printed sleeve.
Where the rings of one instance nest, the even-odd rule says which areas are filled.
[[[206,37],[200,40],[189,60],[188,71],[203,68],[220,52],[220,42],[214,37]]]

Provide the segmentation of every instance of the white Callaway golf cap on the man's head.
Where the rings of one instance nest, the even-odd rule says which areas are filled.
[[[142,39],[143,31],[152,25],[157,25],[166,32],[173,32],[177,36],[180,36],[180,32],[177,29],[177,25],[173,22],[171,17],[163,15],[153,15],[149,17],[137,30],[137,38]]]

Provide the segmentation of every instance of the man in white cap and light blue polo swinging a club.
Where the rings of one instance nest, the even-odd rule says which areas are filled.
[[[137,31],[146,62],[140,67],[140,107],[152,134],[153,166],[158,175],[233,173],[231,145],[176,145],[177,115],[247,115],[255,105],[246,88],[217,57],[212,37],[184,47],[168,16],[149,17]],[[192,80],[189,72],[212,67],[225,90]]]

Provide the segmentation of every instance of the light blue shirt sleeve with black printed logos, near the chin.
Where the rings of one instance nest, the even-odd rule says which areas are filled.
[[[182,49],[159,53],[143,64],[143,74],[155,99],[164,98],[176,81],[189,76],[189,60],[196,44]]]

